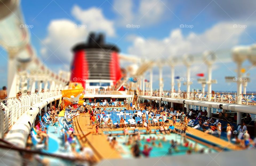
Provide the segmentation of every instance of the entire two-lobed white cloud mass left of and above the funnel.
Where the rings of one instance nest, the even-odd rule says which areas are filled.
[[[54,63],[69,68],[73,54],[72,47],[78,42],[87,40],[90,31],[105,32],[108,36],[115,35],[114,23],[106,19],[101,9],[94,7],[82,10],[75,5],[71,10],[78,23],[69,19],[51,20],[47,28],[47,36],[42,40],[40,53],[46,63]],[[55,56],[56,55],[56,56]],[[56,67],[56,66],[55,66]]]

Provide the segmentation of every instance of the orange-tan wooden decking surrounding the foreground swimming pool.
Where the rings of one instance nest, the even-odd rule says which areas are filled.
[[[172,123],[172,122],[171,122]],[[118,128],[118,129],[109,129],[109,128],[104,128],[104,129],[99,129],[99,134],[95,135],[95,129],[92,130],[90,124],[90,117],[88,114],[85,117],[85,114],[82,113],[80,116],[78,116],[75,119],[75,132],[78,133],[78,140],[82,146],[90,146],[94,151],[95,151],[95,158],[96,160],[102,160],[102,159],[118,159],[121,158],[121,155],[110,148],[109,142],[107,141],[107,136],[103,134],[103,131],[122,131],[123,128]],[[169,125],[169,124],[167,124]],[[182,129],[182,126],[179,126],[180,124],[177,122],[176,123],[176,129]],[[156,129],[158,126],[151,126],[151,129]],[[146,129],[145,127],[138,127],[139,130]],[[133,130],[133,128],[129,128],[129,130]],[[203,131],[193,129],[192,127],[188,127],[188,132],[191,133],[187,134],[187,136],[190,139],[193,139],[197,141],[197,138],[201,138],[207,142],[216,144],[221,151],[224,148],[230,149],[230,150],[241,150],[237,145],[225,141],[221,138],[215,137],[214,135],[211,134],[206,134]],[[191,136],[195,136],[197,138],[193,138]]]

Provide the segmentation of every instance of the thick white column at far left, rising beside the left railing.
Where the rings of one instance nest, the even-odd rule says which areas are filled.
[[[15,69],[15,59],[9,57],[8,63],[8,80],[7,80],[7,97],[16,97],[16,85],[17,85],[17,71]]]

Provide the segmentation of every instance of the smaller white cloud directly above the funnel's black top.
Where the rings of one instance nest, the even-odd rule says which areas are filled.
[[[71,10],[72,15],[83,25],[86,25],[88,31],[102,31],[109,36],[115,35],[114,22],[106,19],[100,8],[89,8],[82,10],[75,5]]]

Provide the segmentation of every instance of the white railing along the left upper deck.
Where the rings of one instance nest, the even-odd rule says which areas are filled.
[[[28,109],[23,106],[32,106],[44,99],[57,95],[61,95],[61,91],[24,94],[21,96],[0,100],[0,109],[2,109],[4,112],[4,132],[7,132],[9,128],[19,119],[19,117]]]

